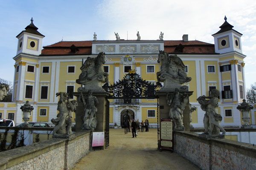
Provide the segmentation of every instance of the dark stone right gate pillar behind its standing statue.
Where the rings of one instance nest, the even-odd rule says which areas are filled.
[[[180,93],[185,93],[185,92],[180,91]],[[191,96],[193,94],[193,91],[186,91],[186,94],[188,94],[188,96]],[[159,97],[159,115],[158,115],[159,119],[168,119],[171,106],[167,104],[167,99],[166,99],[167,92],[159,91],[159,92],[156,92],[156,95]],[[189,102],[188,102],[188,104],[186,105],[183,111],[183,125],[185,129],[176,129],[176,130],[190,131],[189,110],[190,108],[189,108]]]

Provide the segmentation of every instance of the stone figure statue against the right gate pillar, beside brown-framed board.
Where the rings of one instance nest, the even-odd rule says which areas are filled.
[[[175,93],[167,94],[167,104],[171,106],[169,117],[173,119],[175,129],[184,129],[183,111],[188,102],[188,95],[186,93],[181,94],[178,88],[175,88]]]

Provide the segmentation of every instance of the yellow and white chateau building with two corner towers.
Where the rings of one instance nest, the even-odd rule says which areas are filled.
[[[197,98],[209,96],[209,91],[216,88],[220,91],[219,107],[222,126],[241,126],[241,113],[237,105],[245,99],[244,58],[242,53],[242,34],[233,29],[227,19],[220,30],[212,34],[214,44],[198,40],[93,40],[61,41],[44,46],[44,35],[38,32],[33,24],[17,35],[17,55],[15,60],[14,91],[12,103],[0,103],[2,118],[14,119],[17,124],[23,122],[20,106],[28,100],[34,110],[30,121],[48,122],[57,115],[57,92],[76,92],[81,85],[76,83],[80,67],[87,57],[96,57],[105,52],[105,72],[113,84],[122,79],[129,70],[136,70],[143,80],[157,82],[156,73],[160,71],[157,63],[160,50],[176,54],[186,65],[191,82],[184,85],[189,91],[190,103],[197,107],[192,113],[192,125],[203,127],[204,111]],[[217,30],[217,28],[216,28]],[[10,114],[12,113],[12,114]],[[157,100],[137,99],[125,103],[120,99],[110,100],[110,125],[122,125],[125,114],[131,118],[157,125]],[[75,122],[73,113],[73,122]],[[251,114],[251,123],[255,124],[255,113]]]

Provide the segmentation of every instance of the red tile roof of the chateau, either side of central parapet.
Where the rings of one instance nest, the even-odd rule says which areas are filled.
[[[198,40],[184,42],[183,40],[165,40],[164,50],[168,53],[178,53],[175,48],[183,45],[180,54],[215,54],[214,44]],[[78,51],[71,52],[70,47],[75,45]],[[41,55],[83,55],[92,54],[92,41],[60,41],[43,47]]]

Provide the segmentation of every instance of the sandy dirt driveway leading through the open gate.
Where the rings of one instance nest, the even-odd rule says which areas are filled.
[[[131,132],[110,129],[110,146],[82,158],[73,170],[199,170],[186,159],[168,150],[157,151],[157,129]]]

